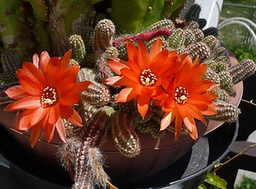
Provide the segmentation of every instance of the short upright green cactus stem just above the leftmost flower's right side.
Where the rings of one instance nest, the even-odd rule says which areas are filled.
[[[85,47],[83,39],[80,35],[70,35],[69,36],[69,47],[72,49],[72,58],[77,60],[80,65],[85,64]]]

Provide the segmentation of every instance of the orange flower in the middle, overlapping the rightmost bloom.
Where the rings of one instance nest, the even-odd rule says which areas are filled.
[[[145,117],[151,99],[164,94],[161,86],[167,86],[181,61],[177,52],[162,50],[162,40],[155,40],[148,51],[138,42],[138,49],[130,40],[126,41],[128,61],[111,57],[107,65],[119,76],[107,78],[103,83],[126,86],[118,94],[118,102],[136,99],[140,116]],[[175,61],[174,61],[175,60]]]

